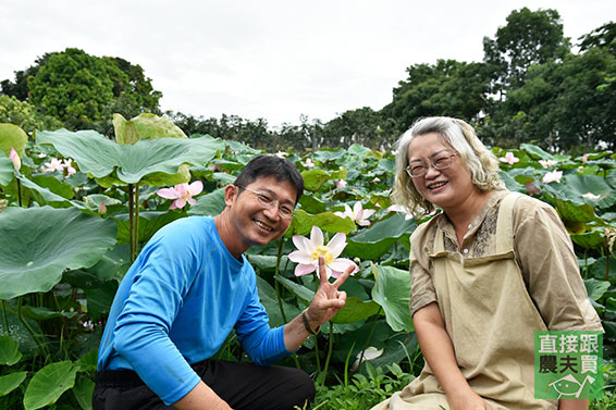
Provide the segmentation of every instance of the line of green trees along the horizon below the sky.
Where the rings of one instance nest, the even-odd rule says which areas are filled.
[[[223,114],[220,119],[167,112],[186,134],[210,134],[276,150],[335,148],[354,142],[391,148],[414,121],[429,115],[461,117],[488,144],[531,142],[552,151],[616,148],[616,23],[577,39],[564,36],[556,10],[514,10],[493,38],[483,39],[481,62],[438,60],[414,64],[381,110],[348,110],[323,123],[272,127]],[[120,58],[66,49],[46,53],[0,83],[0,122],[26,131],[97,129],[112,136],[111,116],[162,114],[151,79]]]

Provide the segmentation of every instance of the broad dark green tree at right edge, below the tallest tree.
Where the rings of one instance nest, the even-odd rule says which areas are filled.
[[[522,86],[512,89],[482,135],[488,142],[588,151],[616,147],[616,57],[606,48],[570,54],[563,62],[533,65]]]

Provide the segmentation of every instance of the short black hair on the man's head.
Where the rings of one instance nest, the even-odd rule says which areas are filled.
[[[257,178],[273,176],[279,182],[288,181],[295,187],[297,196],[295,203],[299,201],[304,194],[304,178],[295,167],[295,164],[285,158],[275,156],[258,156],[255,157],[244,166],[244,170],[237,175],[234,185],[246,187],[254,183]]]

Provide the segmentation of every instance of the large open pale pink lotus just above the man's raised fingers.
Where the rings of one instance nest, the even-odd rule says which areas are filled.
[[[293,235],[293,243],[298,250],[291,252],[288,259],[298,263],[295,266],[295,276],[303,276],[315,271],[319,273],[317,270],[319,257],[325,260],[328,278],[338,277],[350,265],[355,266],[353,273],[359,271],[352,260],[338,258],[346,247],[346,235],[343,233],[335,234],[328,245],[323,245],[323,232],[315,225],[310,232],[310,239]]]

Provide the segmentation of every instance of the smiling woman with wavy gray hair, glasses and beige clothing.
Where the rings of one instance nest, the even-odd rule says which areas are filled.
[[[416,216],[410,313],[421,374],[373,410],[588,409],[534,395],[534,331],[601,331],[569,236],[549,204],[509,192],[461,120],[418,121],[397,142],[392,198]]]

